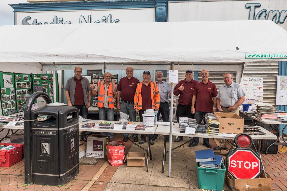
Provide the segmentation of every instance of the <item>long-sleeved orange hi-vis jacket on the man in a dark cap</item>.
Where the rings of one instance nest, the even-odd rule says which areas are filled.
[[[138,108],[139,110],[142,109],[142,100],[141,100],[141,86],[143,85],[143,82],[140,82],[137,84],[137,90],[135,91],[135,97],[134,97],[134,109]],[[155,107],[160,107],[160,91],[158,90],[158,86],[155,82],[150,81],[150,98],[152,99],[152,109],[155,109]]]

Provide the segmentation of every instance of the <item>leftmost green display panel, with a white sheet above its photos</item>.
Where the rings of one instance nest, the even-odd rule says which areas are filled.
[[[4,116],[16,113],[14,74],[0,72],[1,109]]]

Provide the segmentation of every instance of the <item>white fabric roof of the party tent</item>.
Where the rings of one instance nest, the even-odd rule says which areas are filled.
[[[271,20],[2,26],[0,42],[0,62],[220,63],[287,54],[287,31]]]

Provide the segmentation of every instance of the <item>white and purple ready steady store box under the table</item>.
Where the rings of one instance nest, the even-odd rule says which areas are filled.
[[[108,137],[105,136],[90,136],[87,138],[87,157],[104,158],[106,157],[106,144]]]

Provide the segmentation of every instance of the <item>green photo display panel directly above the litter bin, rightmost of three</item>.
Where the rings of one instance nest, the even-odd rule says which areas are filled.
[[[58,74],[56,74],[56,102],[59,102],[59,87],[58,87]],[[32,91],[42,91],[48,94],[48,96],[51,98],[52,102],[53,100],[53,87],[55,84],[53,84],[53,74],[32,74]]]

